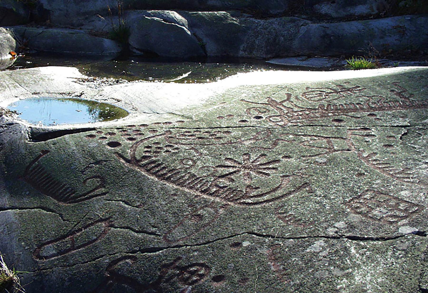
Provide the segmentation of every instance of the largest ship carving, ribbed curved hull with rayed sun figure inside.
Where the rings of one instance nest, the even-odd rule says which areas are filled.
[[[235,148],[253,145],[269,137],[269,131],[259,131],[247,138],[234,136],[230,130],[166,130],[153,134],[134,142],[127,154],[117,152],[116,156],[125,165],[151,178],[197,196],[226,204],[254,206],[281,200],[303,189],[310,190],[309,182],[279,170],[276,165],[282,162],[281,157],[270,159],[262,153],[251,159],[249,153],[243,153],[240,162],[222,154],[223,145]],[[229,153],[226,149],[224,152]],[[227,165],[213,163],[212,154],[218,154]],[[243,176],[244,180],[237,176]],[[270,180],[262,185],[266,177]]]

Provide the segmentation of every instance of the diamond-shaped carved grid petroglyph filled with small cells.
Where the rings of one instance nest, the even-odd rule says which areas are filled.
[[[367,219],[396,224],[403,219],[420,213],[425,207],[386,193],[368,189],[346,205]]]

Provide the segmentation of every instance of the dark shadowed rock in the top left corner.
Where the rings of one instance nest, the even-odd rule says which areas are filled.
[[[0,1],[0,26],[26,24],[30,20],[30,9],[15,0]]]

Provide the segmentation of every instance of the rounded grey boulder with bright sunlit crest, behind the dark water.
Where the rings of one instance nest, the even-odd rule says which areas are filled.
[[[144,15],[134,15],[129,44],[137,54],[149,52],[178,58],[205,56],[202,44],[186,27]]]

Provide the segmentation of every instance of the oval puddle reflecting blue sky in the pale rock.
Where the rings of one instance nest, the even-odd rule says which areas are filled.
[[[8,106],[19,118],[45,126],[112,121],[128,116],[128,112],[111,104],[76,98],[29,98]]]

